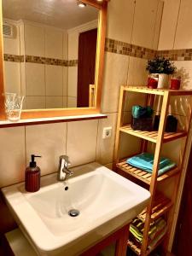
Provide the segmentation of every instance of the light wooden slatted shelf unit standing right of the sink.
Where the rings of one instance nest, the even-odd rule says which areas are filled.
[[[147,96],[146,105],[150,105],[152,108],[154,107],[153,105],[154,97],[162,96],[160,125],[159,125],[158,131],[134,131],[132,130],[130,124],[125,125],[123,123],[125,101],[127,100],[126,98],[129,98],[129,92],[146,94]],[[127,93],[127,96],[125,95],[126,93]],[[179,163],[177,167],[172,168],[172,170],[165,172],[164,174],[158,177],[160,152],[161,152],[161,147],[163,143],[169,143],[174,140],[177,140],[178,138],[188,138],[189,124],[191,120],[191,109],[188,108],[188,113],[187,113],[188,122],[186,122],[187,123],[186,129],[184,131],[165,132],[166,116],[168,113],[168,106],[169,106],[169,101],[171,96],[190,96],[190,100],[192,100],[192,97],[191,97],[192,90],[158,90],[158,89],[153,90],[143,86],[129,86],[129,85],[122,85],[120,89],[119,115],[118,115],[118,121],[117,121],[117,132],[116,132],[114,160],[113,160],[114,166],[115,166],[115,169],[118,168],[119,170],[125,173],[128,173],[132,177],[135,177],[138,180],[143,181],[143,183],[147,183],[149,185],[149,191],[151,193],[151,198],[148,202],[148,207],[138,215],[138,218],[143,219],[143,222],[144,222],[142,246],[137,247],[137,245],[135,245],[132,241],[128,241],[128,246],[131,247],[131,249],[135,253],[137,253],[137,255],[142,255],[142,256],[147,256],[149,253],[151,253],[154,250],[154,248],[151,248],[150,250],[148,249],[148,230],[149,230],[150,223],[154,219],[160,218],[160,216],[165,215],[165,213],[171,210],[167,218],[166,235],[163,236],[160,239],[160,241],[155,245],[155,247],[159,246],[162,241],[165,241],[164,238],[166,237],[167,243],[165,243],[165,247],[164,247],[166,250],[166,246],[168,244],[168,239],[169,239],[168,235],[172,226],[173,206],[174,206],[174,202],[176,201],[179,176],[183,168],[183,155],[186,149],[187,139],[183,141],[184,146],[181,149],[181,152],[183,154],[181,154],[182,157],[179,158]],[[141,148],[140,148],[141,153],[145,152],[146,148],[148,148],[148,142],[155,143],[154,166],[153,166],[152,173],[148,173],[136,167],[128,165],[126,163],[126,159],[128,157],[131,157],[132,155],[128,156],[126,159],[123,159],[123,160],[119,159],[119,148],[120,148],[119,137],[122,132],[142,139]],[[177,180],[175,183],[175,189],[172,194],[172,199],[171,200],[167,199],[165,196],[161,195],[158,197],[158,200],[157,200],[157,197],[156,197],[157,184],[162,183],[171,177],[177,177]]]

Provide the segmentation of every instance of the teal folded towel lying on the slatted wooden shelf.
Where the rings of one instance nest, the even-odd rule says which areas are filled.
[[[138,169],[152,173],[153,166],[154,166],[154,154],[149,154],[149,153],[137,154],[129,158],[128,160],[126,160],[126,162],[127,164],[137,167]],[[174,166],[176,166],[176,163],[172,162],[172,160],[168,158],[160,157],[158,176],[160,176],[164,172],[169,171]]]

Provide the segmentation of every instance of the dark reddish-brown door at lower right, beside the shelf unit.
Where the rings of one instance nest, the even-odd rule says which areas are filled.
[[[186,173],[172,253],[192,256],[192,150]]]

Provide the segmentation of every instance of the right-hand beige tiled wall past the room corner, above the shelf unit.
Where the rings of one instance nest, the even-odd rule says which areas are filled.
[[[172,49],[176,53],[181,49],[184,51],[175,63],[185,89],[192,89],[191,9],[192,2],[190,0],[165,1],[160,29],[160,50]]]

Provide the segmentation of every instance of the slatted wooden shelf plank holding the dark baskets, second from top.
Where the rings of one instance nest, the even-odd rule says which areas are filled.
[[[131,128],[131,125],[123,125],[119,128],[119,131],[128,133],[132,136],[143,138],[144,140],[147,140],[151,143],[157,143],[157,137],[158,137],[158,131],[138,131],[133,130]],[[168,143],[173,140],[176,140],[181,137],[186,137],[187,132],[186,131],[177,131],[177,132],[165,132],[163,143]]]

